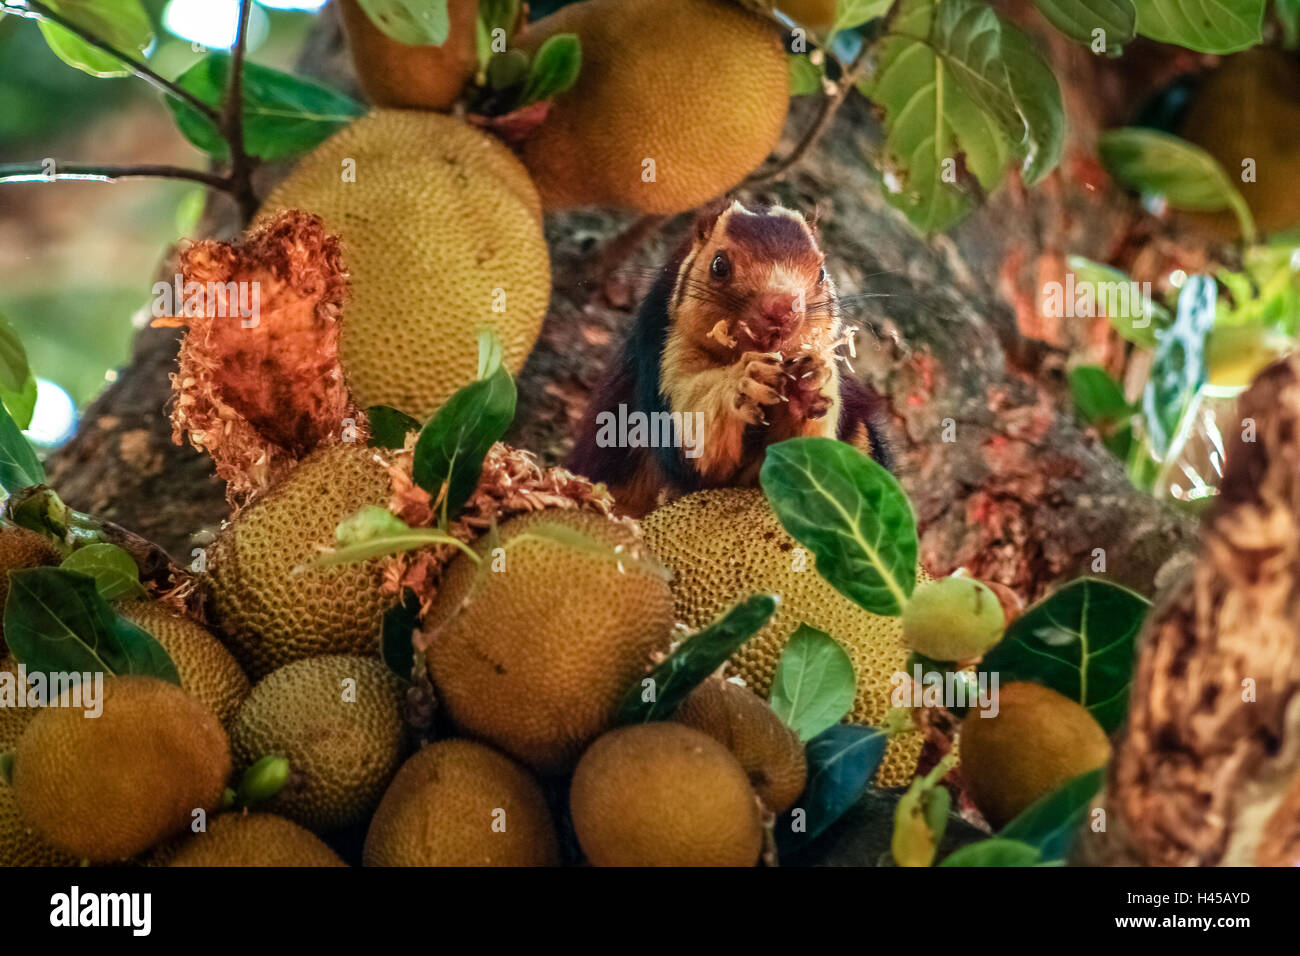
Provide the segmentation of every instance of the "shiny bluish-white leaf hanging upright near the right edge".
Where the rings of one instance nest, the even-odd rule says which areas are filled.
[[[1156,333],[1156,356],[1143,390],[1141,410],[1147,441],[1161,460],[1179,444],[1187,408],[1209,376],[1205,350],[1214,328],[1217,298],[1218,286],[1213,278],[1190,276],[1178,294],[1174,324]]]

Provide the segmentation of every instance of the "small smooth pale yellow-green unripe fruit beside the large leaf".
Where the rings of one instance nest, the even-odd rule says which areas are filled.
[[[988,585],[941,578],[916,588],[902,611],[902,643],[935,661],[967,661],[1002,639],[1006,617]]]

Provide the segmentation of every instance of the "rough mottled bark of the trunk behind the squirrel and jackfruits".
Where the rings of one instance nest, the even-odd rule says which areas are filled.
[[[1097,339],[1097,323],[1053,328],[1037,313],[1035,290],[1063,274],[1069,252],[1108,259],[1123,250],[1136,213],[1088,159],[1091,139],[1098,124],[1121,120],[1135,85],[1150,86],[1161,70],[1148,65],[1126,78],[1114,61],[1041,35],[1071,122],[1070,153],[1043,187],[1009,185],[950,235],[922,239],[884,202],[867,159],[879,127],[852,98],[819,148],[783,181],[749,195],[815,209],[841,291],[888,294],[850,312],[866,329],[857,368],[890,401],[927,564],[937,572],[966,566],[1032,598],[1088,568],[1093,549],[1102,548],[1112,579],[1150,593],[1161,564],[1188,545],[1190,523],[1134,490],[1095,436],[1074,423],[1056,346]],[[350,86],[329,18],[311,43],[304,61]],[[807,105],[796,103],[788,139],[807,122]],[[217,234],[231,228],[224,206],[214,204],[209,217]],[[599,248],[627,224],[602,212],[547,222],[555,289],[520,376],[511,436],[546,460],[563,454],[650,269],[681,228],[670,222],[614,277],[593,276]],[[174,330],[138,336],[131,364],[90,407],[51,473],[74,507],[183,558],[220,524],[225,505],[205,459],[170,440],[166,376],[176,342]],[[952,441],[944,441],[946,420]]]

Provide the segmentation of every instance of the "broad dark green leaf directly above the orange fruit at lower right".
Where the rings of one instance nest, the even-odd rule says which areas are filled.
[[[1049,687],[1087,708],[1110,734],[1128,710],[1138,632],[1149,607],[1127,588],[1080,578],[1013,620],[979,669],[1000,684]]]

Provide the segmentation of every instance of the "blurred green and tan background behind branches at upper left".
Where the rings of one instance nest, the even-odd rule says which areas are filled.
[[[156,30],[150,64],[165,77],[231,43],[238,0],[144,5]],[[291,70],[321,7],[324,0],[259,0],[250,53]],[[35,23],[4,17],[0,163],[44,157],[207,164],[159,92],[135,78],[70,69]],[[202,186],[165,179],[0,185],[0,315],[17,329],[40,385],[29,437],[58,444],[75,427],[75,410],[114,380],[162,255],[177,237],[194,235],[202,207]]]

